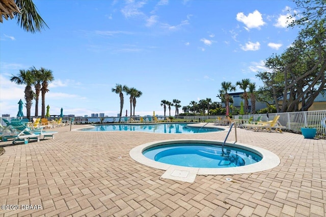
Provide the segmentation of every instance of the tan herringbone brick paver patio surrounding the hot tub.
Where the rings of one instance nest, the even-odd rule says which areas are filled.
[[[249,174],[197,175],[188,183],[161,179],[165,171],[135,162],[129,151],[159,140],[223,141],[226,131],[55,130],[54,140],[0,143],[6,150],[0,156],[0,204],[19,208],[2,209],[0,216],[326,216],[325,140],[237,129],[238,142],[274,152],[280,165]]]

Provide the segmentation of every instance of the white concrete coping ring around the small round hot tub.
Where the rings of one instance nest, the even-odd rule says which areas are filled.
[[[250,150],[262,156],[262,160],[255,164],[233,167],[233,168],[191,168],[191,167],[181,167],[175,165],[164,164],[151,160],[143,155],[143,151],[153,146],[166,145],[171,143],[194,143],[201,142],[207,144],[222,145],[223,141],[214,140],[163,140],[155,141],[151,143],[146,143],[130,150],[130,157],[139,162],[140,164],[152,167],[155,169],[166,170],[166,173],[161,176],[161,178],[194,182],[196,175],[230,175],[230,174],[242,174],[242,173],[254,173],[264,170],[269,170],[277,167],[280,164],[280,158],[266,149],[259,148],[252,145],[241,144],[241,143],[226,143],[225,145],[231,147],[242,148]],[[180,174],[178,176],[178,174]],[[186,174],[186,175],[185,175]],[[194,175],[196,174],[196,175]]]

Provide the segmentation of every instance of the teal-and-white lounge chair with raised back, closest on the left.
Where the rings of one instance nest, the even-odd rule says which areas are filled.
[[[13,139],[13,144],[16,144],[16,141],[23,141],[24,144],[28,144],[30,140],[37,140],[37,142],[40,141],[40,137],[43,136],[43,139],[45,137],[51,137],[54,139],[54,134],[58,133],[55,131],[34,131],[30,130],[28,127],[21,123],[11,123],[11,126],[17,130],[16,134],[13,135],[5,135],[3,137],[3,141],[7,141],[8,139]]]

